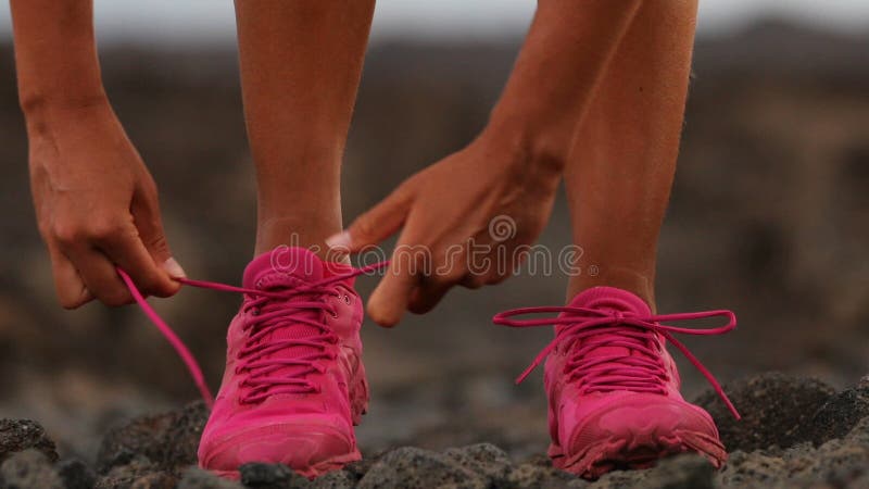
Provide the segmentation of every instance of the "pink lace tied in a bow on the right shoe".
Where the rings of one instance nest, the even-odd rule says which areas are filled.
[[[524,314],[541,313],[568,313],[570,316],[545,317],[539,319],[511,319],[511,317]],[[691,329],[667,324],[663,322],[691,321],[708,317],[726,317],[728,323],[725,326],[708,329]],[[570,352],[567,361],[568,379],[578,383],[581,393],[587,392],[609,392],[614,390],[630,390],[634,392],[658,392],[666,393],[665,381],[668,373],[657,353],[648,341],[650,333],[657,333],[675,346],[683,355],[706,377],[713,386],[718,397],[727,404],[727,408],[739,419],[740,413],[730,402],[721,385],[716,380],[711,373],[696,359],[688,348],[679,340],[673,338],[673,334],[683,335],[722,335],[736,327],[736,316],[731,311],[704,311],[681,314],[658,314],[639,316],[632,313],[620,311],[601,311],[587,308],[571,306],[542,306],[542,308],[520,308],[496,314],[492,321],[495,324],[511,327],[538,327],[564,325],[557,330],[553,339],[537,355],[531,365],[522,372],[516,379],[516,384],[525,380],[526,377],[555,349],[564,341],[580,341],[580,348]],[[614,335],[614,328],[618,328],[618,334]],[[589,353],[602,347],[621,347],[639,353],[638,355],[590,355]]]

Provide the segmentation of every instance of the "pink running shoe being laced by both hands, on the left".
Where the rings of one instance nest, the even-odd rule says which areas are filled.
[[[203,468],[237,477],[241,464],[268,462],[315,477],[361,459],[353,425],[365,413],[368,386],[353,276],[362,272],[301,248],[248,265],[199,447]]]

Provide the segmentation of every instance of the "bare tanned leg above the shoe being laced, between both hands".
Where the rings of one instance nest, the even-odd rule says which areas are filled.
[[[324,249],[341,230],[341,158],[373,13],[374,0],[236,0],[256,253]]]

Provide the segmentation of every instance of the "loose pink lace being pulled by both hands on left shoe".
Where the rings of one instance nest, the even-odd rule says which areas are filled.
[[[286,301],[290,298],[333,293],[328,289],[329,285],[382,268],[388,264],[389,262],[375,263],[362,268],[354,268],[352,272],[348,272],[345,274],[325,278],[314,284],[274,292],[235,287],[215,281],[191,280],[189,278],[177,278],[177,280],[184,285],[192,287],[219,290],[224,292],[245,293],[255,298],[245,305],[245,312],[255,310],[256,312],[254,315],[257,317],[257,319],[245,325],[245,328],[248,328],[248,330],[251,333],[248,336],[245,346],[239,353],[239,359],[241,362],[237,366],[236,372],[240,373],[242,369],[250,372],[250,375],[245,380],[247,387],[249,387],[250,390],[247,392],[247,396],[242,398],[242,402],[253,403],[260,402],[266,397],[275,393],[315,391],[316,386],[306,381],[304,377],[306,374],[322,368],[315,362],[319,359],[327,358],[328,353],[325,351],[325,344],[328,342],[335,342],[338,339],[325,324],[302,316],[302,313],[305,311],[326,311],[329,314],[335,314],[335,311],[332,311],[328,304],[322,301],[311,300],[293,301],[290,303],[284,302],[278,306],[273,302],[273,300],[282,299]],[[160,333],[178,353],[178,356],[181,358],[185,365],[187,365],[187,369],[193,377],[193,381],[199,388],[199,392],[202,396],[202,399],[205,401],[205,404],[207,404],[209,408],[214,406],[214,396],[212,396],[211,390],[205,383],[205,377],[202,375],[202,368],[200,368],[199,363],[197,363],[196,358],[193,358],[193,354],[190,353],[190,350],[187,348],[184,341],[178,338],[178,335],[176,335],[175,331],[166,324],[166,322],[160,317],[160,314],[158,314],[156,311],[151,308],[151,304],[149,304],[141,294],[129,275],[121,268],[117,268],[117,273],[124,280],[124,284],[126,284],[127,288],[133,294],[133,298],[136,300],[136,303],[139,304],[148,318],[151,319],[151,323],[156,326]],[[288,312],[288,309],[291,310],[291,312]],[[259,342],[277,328],[299,323],[311,325],[319,329],[320,334],[314,337],[274,341],[270,344],[261,344]],[[274,353],[275,351],[291,346],[312,347],[316,352],[299,359],[267,358],[269,353]],[[269,374],[274,371],[288,365],[297,365],[301,366],[302,368],[294,369],[293,375],[291,376],[269,376]],[[275,386],[281,387],[275,389]]]

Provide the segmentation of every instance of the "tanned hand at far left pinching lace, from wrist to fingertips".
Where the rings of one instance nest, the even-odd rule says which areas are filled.
[[[144,294],[177,292],[172,277],[184,271],[166,243],[156,186],[108,100],[27,115],[30,187],[61,305],[131,302],[116,266]]]

